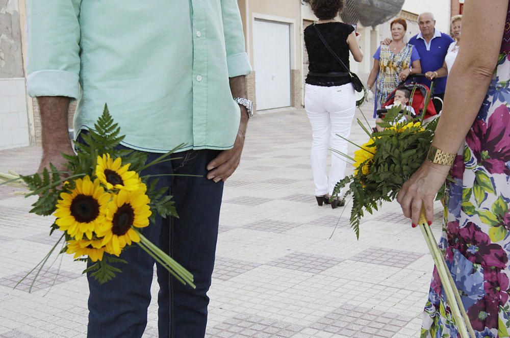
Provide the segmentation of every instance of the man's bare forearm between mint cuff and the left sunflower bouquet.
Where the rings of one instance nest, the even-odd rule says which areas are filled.
[[[64,146],[70,146],[67,124],[70,98],[41,96],[37,102],[41,112],[43,153],[60,153]]]

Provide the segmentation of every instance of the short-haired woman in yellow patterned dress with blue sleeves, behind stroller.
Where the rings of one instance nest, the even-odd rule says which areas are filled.
[[[377,109],[386,102],[398,84],[411,74],[421,73],[420,55],[416,48],[404,42],[407,22],[395,19],[390,23],[392,41],[389,45],[382,44],[374,54],[374,66],[368,76],[367,87],[372,90],[377,81],[375,94],[374,117]]]

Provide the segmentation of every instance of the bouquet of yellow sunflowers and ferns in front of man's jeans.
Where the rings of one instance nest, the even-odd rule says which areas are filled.
[[[129,264],[119,256],[136,244],[175,278],[194,288],[193,275],[143,236],[143,228],[154,221],[156,213],[163,218],[177,213],[166,188],[156,188],[158,178],[141,173],[171,160],[171,154],[182,145],[146,163],[145,153],[117,147],[124,136],[106,106],[94,129],[81,137],[83,142],[75,143],[77,154],[63,154],[66,171],[58,171],[50,164],[42,173],[33,175],[0,174],[2,184],[28,189],[25,196],[39,196],[30,212],[55,216],[50,236],[60,236],[23,279],[37,270],[33,285],[61,244],[60,253],[74,255],[75,261],[89,261],[83,273],[105,283],[121,272],[118,263]]]

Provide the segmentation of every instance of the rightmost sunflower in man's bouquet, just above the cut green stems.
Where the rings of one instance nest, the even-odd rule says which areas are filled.
[[[150,200],[145,195],[146,191],[144,184],[135,191],[120,190],[108,203],[105,226],[97,231],[97,236],[103,237],[101,244],[107,246],[111,253],[118,256],[126,245],[140,242],[133,227],[149,225]]]

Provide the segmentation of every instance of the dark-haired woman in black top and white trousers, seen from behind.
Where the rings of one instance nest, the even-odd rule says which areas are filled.
[[[344,8],[344,0],[308,0],[319,18],[304,30],[304,42],[310,61],[307,76],[304,106],[312,125],[312,171],[317,203],[327,202],[333,188],[345,176],[345,160],[338,155],[331,157],[329,177],[326,169],[327,148],[330,146],[347,153],[347,142],[337,135],[347,138],[356,99],[349,74],[324,45],[316,28],[331,49],[349,67],[349,51],[356,62],[363,60],[363,52],[356,41],[354,28],[335,20]],[[339,196],[331,207],[345,204]]]

